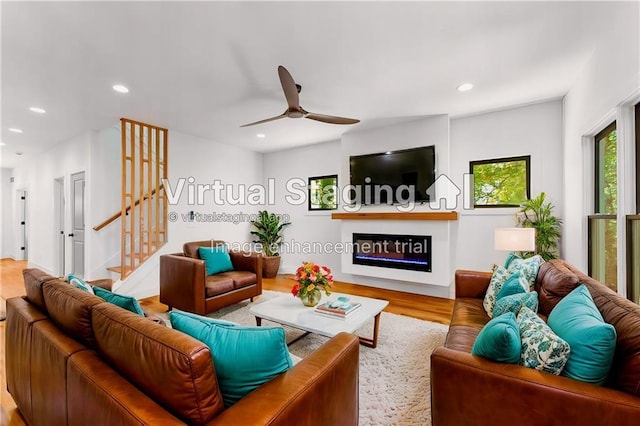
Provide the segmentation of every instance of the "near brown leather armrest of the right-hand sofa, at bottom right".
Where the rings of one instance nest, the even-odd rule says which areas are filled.
[[[434,426],[637,425],[640,398],[445,347],[431,355]]]

